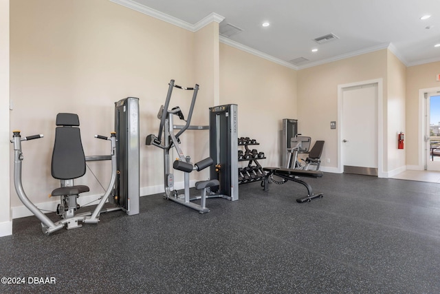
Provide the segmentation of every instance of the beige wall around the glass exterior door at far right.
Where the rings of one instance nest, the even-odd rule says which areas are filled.
[[[421,125],[419,123],[419,90],[439,87],[440,61],[410,66],[406,69],[406,165],[423,168],[421,161]],[[440,90],[440,89],[439,89]]]

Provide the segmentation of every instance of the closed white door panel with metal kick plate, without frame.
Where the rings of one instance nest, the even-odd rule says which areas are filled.
[[[377,176],[377,83],[343,89],[341,135],[344,173]]]

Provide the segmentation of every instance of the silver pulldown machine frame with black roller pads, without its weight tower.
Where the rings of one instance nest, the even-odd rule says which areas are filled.
[[[186,117],[186,124],[184,126],[175,126],[173,124],[173,117],[179,116],[181,120],[185,120],[184,114],[181,112],[180,107],[173,107],[169,109],[170,98],[173,89],[177,88],[179,90],[190,90],[192,91],[192,100],[190,103],[190,109],[188,111],[188,116]],[[192,164],[190,156],[185,156],[184,152],[179,147],[179,137],[187,129],[204,129],[203,127],[192,127],[190,126],[192,111],[194,110],[195,101],[197,98],[197,92],[199,91],[199,85],[195,87],[181,87],[175,85],[175,81],[171,80],[168,84],[168,93],[166,94],[165,104],[162,105],[157,114],[157,118],[160,120],[159,133],[157,136],[154,134],[148,135],[145,140],[146,145],[154,145],[164,150],[164,188],[165,197],[169,200],[173,200],[179,204],[183,204],[186,207],[190,207],[199,211],[199,213],[209,212],[208,207],[206,207],[206,198],[212,197],[214,195],[207,196],[208,189],[219,185],[219,180],[203,180],[195,183],[195,189],[201,190],[201,196],[190,198],[190,173],[193,170],[201,171],[206,167],[209,167],[214,163],[212,158],[208,157],[199,162]],[[179,128],[177,134],[174,133],[174,129]],[[163,134],[163,138],[162,138]],[[174,175],[170,172],[170,149],[175,148],[178,154],[178,158],[173,162],[173,168],[179,171],[184,171],[184,194],[178,194],[177,190],[174,189]],[[218,197],[218,196],[215,196]],[[191,202],[192,200],[200,199],[200,204]]]

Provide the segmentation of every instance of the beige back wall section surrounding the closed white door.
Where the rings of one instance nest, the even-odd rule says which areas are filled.
[[[338,131],[330,129],[330,122],[338,120],[338,85],[383,78],[386,93],[387,51],[298,71],[298,131],[311,136],[312,141],[325,140],[321,156],[324,169],[334,170],[338,165]]]

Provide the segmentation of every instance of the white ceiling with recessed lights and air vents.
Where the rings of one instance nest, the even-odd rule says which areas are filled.
[[[146,6],[190,25],[214,12],[225,18],[220,25],[243,30],[223,42],[244,45],[298,69],[382,48],[390,48],[407,66],[440,61],[440,48],[434,48],[440,43],[440,0],[111,1]],[[425,14],[432,17],[420,20]],[[264,21],[270,26],[263,28]],[[339,39],[313,41],[329,33]],[[313,48],[318,52],[311,52]],[[289,63],[300,57],[309,61]]]

